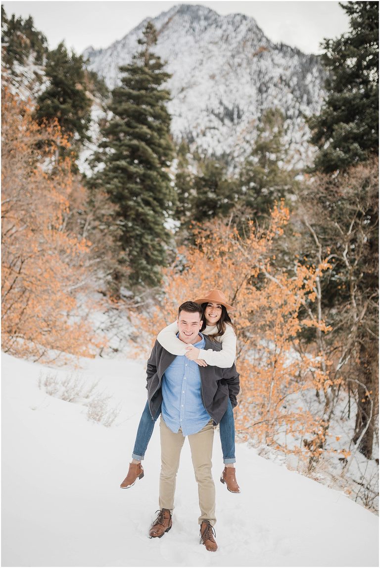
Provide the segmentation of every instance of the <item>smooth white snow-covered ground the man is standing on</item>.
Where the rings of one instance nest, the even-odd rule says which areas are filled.
[[[106,428],[88,407],[53,398],[39,377],[52,369],[2,356],[2,566],[377,566],[378,517],[298,473],[237,445],[241,494],[218,478],[214,439],[216,553],[199,544],[199,507],[186,442],[177,478],[172,530],[149,540],[158,508],[159,429],[145,476],[122,490],[146,399],[144,364],[81,360],[86,385],[112,395],[121,411]]]

